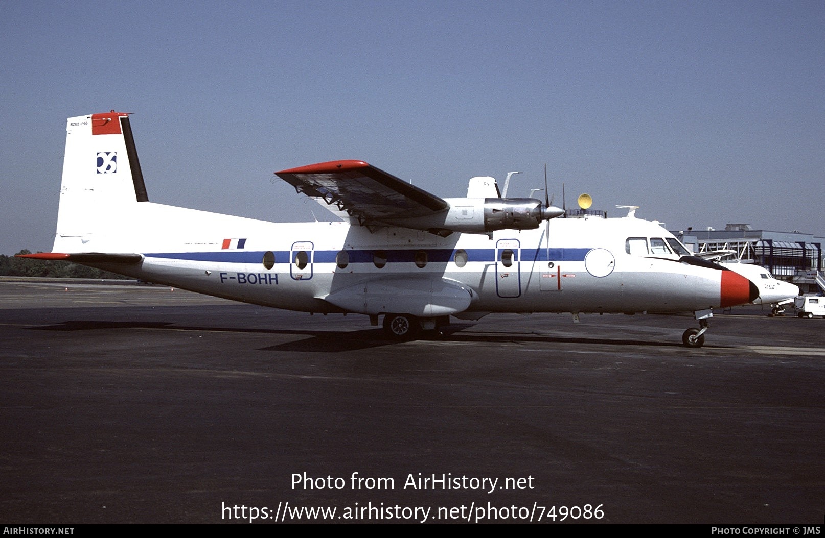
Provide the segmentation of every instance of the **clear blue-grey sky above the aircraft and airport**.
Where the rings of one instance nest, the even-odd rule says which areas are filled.
[[[825,2],[0,2],[0,254],[50,250],[68,116],[134,112],[149,199],[328,218],[273,171],[825,235]]]

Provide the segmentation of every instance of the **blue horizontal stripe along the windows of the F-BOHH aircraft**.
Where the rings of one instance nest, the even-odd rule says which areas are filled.
[[[446,263],[453,259],[453,249],[376,249],[376,250],[347,250],[349,263],[371,264],[376,252],[382,253],[388,264],[408,264],[416,260],[417,252],[427,253],[427,263]],[[521,261],[582,261],[591,249],[521,249]],[[313,260],[316,264],[335,263],[335,257],[340,250],[314,250]],[[144,253],[147,258],[163,258],[166,260],[211,261],[226,264],[262,264],[265,250],[220,250],[215,252],[151,252]],[[276,264],[288,264],[289,250],[273,250]],[[496,261],[495,249],[469,249],[468,262]]]

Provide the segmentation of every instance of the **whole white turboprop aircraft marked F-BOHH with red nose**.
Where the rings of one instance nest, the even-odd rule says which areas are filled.
[[[339,222],[275,223],[148,201],[129,116],[68,119],[51,253],[193,292],[308,312],[356,312],[398,339],[489,312],[694,312],[759,288],[695,257],[657,222],[558,218],[540,199],[502,198],[490,177],[441,199],[363,161],[276,172]],[[545,189],[546,193],[546,189]],[[632,212],[631,212],[632,213]]]

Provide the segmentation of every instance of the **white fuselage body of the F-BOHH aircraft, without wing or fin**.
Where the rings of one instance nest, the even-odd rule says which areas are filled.
[[[149,203],[135,208],[148,213],[182,210]],[[175,237],[168,231],[149,233],[144,246],[130,238],[130,245],[144,256],[140,264],[97,265],[295,311],[403,311],[398,304],[359,306],[362,294],[357,287],[382,280],[395,288],[410,284],[412,292],[436,281],[464,286],[469,304],[456,306],[457,311],[676,312],[742,302],[741,290],[728,289],[721,270],[679,263],[680,256],[669,251],[629,254],[631,239],[672,238],[658,224],[637,218],[554,219],[539,229],[503,230],[490,238],[461,233],[440,237],[389,227],[370,232],[346,222],[281,224],[185,211],[191,214],[181,220]],[[135,218],[158,221],[151,215]],[[115,248],[95,242],[87,239],[84,246],[92,251]],[[447,295],[455,293],[448,288]],[[346,289],[353,290],[352,297],[338,302],[343,306],[331,302]],[[403,289],[399,293],[403,295]],[[747,302],[747,292],[745,296]],[[427,316],[426,311],[409,313]],[[450,313],[448,307],[431,315]]]

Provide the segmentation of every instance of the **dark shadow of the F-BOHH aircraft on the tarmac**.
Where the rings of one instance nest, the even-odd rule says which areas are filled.
[[[570,338],[557,337],[552,335],[535,333],[517,334],[479,334],[462,333],[462,330],[473,327],[472,324],[454,324],[445,327],[441,332],[425,331],[421,340],[436,342],[453,342],[456,344],[480,344],[489,342],[491,344],[502,344],[506,342],[535,343],[535,344],[588,344],[588,345],[616,345],[616,346],[652,346],[660,348],[681,348],[681,345],[674,339],[673,341],[652,341],[641,339],[610,339],[610,338]],[[393,339],[388,339],[381,329],[367,330],[301,330],[301,329],[256,329],[239,327],[210,327],[177,325],[173,321],[109,321],[109,320],[68,320],[57,325],[41,325],[30,327],[30,330],[55,330],[55,331],[75,331],[75,330],[123,330],[123,329],[150,329],[150,330],[183,330],[183,331],[204,331],[221,333],[247,333],[247,334],[279,334],[309,336],[311,338],[291,340],[283,344],[277,344],[259,349],[260,351],[289,351],[289,352],[309,352],[309,353],[341,353],[347,351],[357,351],[360,349],[378,348],[386,345],[403,344]]]

